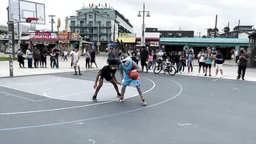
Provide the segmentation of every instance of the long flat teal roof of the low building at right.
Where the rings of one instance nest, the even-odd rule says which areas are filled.
[[[187,43],[249,43],[249,39],[235,38],[160,38],[161,42],[187,42]]]

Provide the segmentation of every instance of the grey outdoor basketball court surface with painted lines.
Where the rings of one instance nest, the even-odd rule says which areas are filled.
[[[126,101],[104,83],[91,102],[97,71],[0,79],[0,139],[13,143],[253,143],[254,82],[141,74]],[[117,75],[119,78],[120,75]],[[119,79],[120,80],[120,79]]]

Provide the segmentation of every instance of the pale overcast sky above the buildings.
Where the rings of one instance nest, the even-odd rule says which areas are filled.
[[[75,10],[82,8],[83,3],[86,7],[89,4],[99,3],[112,6],[120,14],[123,14],[133,25],[137,35],[141,34],[142,18],[137,18],[138,11],[142,11],[143,1],[138,0],[30,0],[46,5],[46,25],[38,25],[40,28],[50,30],[49,14],[56,15],[62,20],[64,29],[65,18],[75,15]],[[254,0],[146,0],[146,10],[150,11],[150,18],[146,18],[146,27],[158,27],[162,30],[194,30],[198,33],[206,34],[206,28],[214,27],[216,14],[219,16],[218,28],[222,30],[230,22],[230,27],[238,24],[254,25]],[[2,0],[0,8],[0,24],[6,24],[8,0]],[[56,25],[55,25],[56,28]]]

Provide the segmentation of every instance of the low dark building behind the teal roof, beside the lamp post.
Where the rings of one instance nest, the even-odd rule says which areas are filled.
[[[164,37],[194,37],[194,30],[158,30],[158,28],[146,27],[145,33],[159,33]]]

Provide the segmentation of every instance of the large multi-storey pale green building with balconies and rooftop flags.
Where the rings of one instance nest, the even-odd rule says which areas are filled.
[[[94,43],[108,43],[120,33],[133,33],[129,20],[113,8],[82,8],[69,18],[69,27],[71,32]]]

